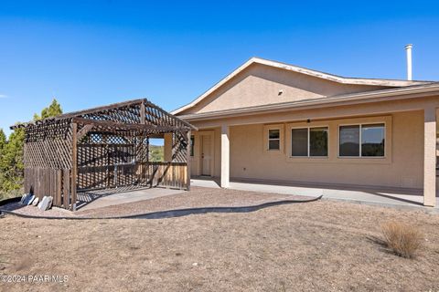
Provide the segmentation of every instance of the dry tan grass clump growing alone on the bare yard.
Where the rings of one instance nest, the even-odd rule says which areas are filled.
[[[423,235],[418,227],[391,221],[382,224],[384,243],[396,255],[412,258],[423,243]]]

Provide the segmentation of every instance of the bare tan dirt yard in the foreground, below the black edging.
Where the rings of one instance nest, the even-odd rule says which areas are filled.
[[[398,220],[415,259],[374,238]],[[0,274],[67,276],[3,291],[438,291],[439,215],[319,201],[172,219],[0,219]]]

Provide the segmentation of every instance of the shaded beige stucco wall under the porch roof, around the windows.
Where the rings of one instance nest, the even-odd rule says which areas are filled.
[[[386,158],[348,159],[337,157],[338,124],[386,122]],[[423,187],[423,111],[393,113],[381,117],[321,120],[308,126],[329,127],[327,158],[290,158],[290,129],[302,123],[284,124],[284,152],[265,150],[266,125],[230,127],[230,177],[343,183],[389,187]],[[219,176],[219,130],[216,130],[215,175]]]

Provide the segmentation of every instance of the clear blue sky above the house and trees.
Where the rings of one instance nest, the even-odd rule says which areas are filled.
[[[195,99],[257,56],[347,77],[439,80],[439,4],[423,1],[1,1],[0,128],[64,111]]]

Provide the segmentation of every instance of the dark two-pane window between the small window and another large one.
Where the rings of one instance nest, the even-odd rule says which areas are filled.
[[[292,129],[291,156],[327,156],[327,127]]]

